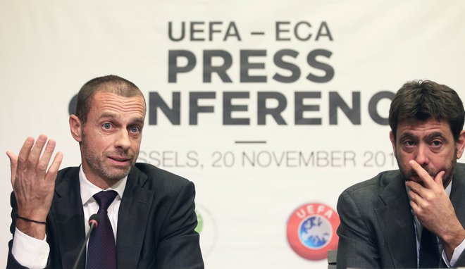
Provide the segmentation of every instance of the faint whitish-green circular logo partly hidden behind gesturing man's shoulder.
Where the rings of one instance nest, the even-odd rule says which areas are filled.
[[[204,206],[195,205],[195,213],[197,214],[197,227],[195,231],[200,234],[200,248],[204,257],[209,256],[216,244],[216,223]]]

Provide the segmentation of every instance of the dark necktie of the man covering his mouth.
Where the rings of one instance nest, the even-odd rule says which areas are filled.
[[[438,268],[439,249],[438,239],[433,232],[425,227],[421,232],[419,268]]]

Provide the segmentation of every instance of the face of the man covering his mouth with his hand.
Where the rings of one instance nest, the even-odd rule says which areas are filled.
[[[433,119],[400,123],[397,125],[396,140],[392,132],[390,139],[397,165],[406,180],[422,184],[409,165],[410,160],[415,160],[433,178],[445,170],[442,180],[445,185],[449,184],[457,158],[461,155],[461,151],[457,154],[457,144],[449,123]]]

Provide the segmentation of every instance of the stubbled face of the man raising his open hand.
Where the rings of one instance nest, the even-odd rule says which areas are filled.
[[[81,129],[82,169],[89,181],[111,187],[128,175],[139,155],[144,118],[142,96],[95,94]]]

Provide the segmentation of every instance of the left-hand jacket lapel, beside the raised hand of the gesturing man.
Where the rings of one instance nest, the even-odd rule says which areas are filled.
[[[71,268],[85,238],[79,168],[69,168],[57,179],[51,215],[56,220],[57,234],[55,235],[62,266]],[[85,255],[82,256],[79,267],[84,268],[84,263]]]

